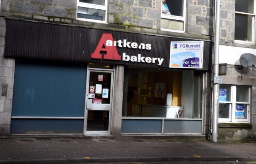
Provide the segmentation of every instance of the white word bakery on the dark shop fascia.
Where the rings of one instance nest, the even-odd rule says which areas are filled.
[[[126,55],[126,53],[122,53],[122,61],[131,61],[131,62],[141,62],[141,63],[155,63],[158,62],[158,65],[160,66],[164,59],[163,58],[151,58],[151,57],[145,57],[141,56],[141,54],[138,54],[138,56],[129,56]]]

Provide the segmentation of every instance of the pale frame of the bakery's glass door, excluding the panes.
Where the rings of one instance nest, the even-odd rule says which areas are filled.
[[[88,100],[88,93],[89,93],[89,82],[90,82],[90,72],[104,72],[104,73],[111,73],[111,88],[110,88],[110,110],[109,111],[109,122],[108,122],[108,131],[87,131],[87,116],[88,110],[87,109],[87,100]],[[110,135],[111,134],[111,125],[112,125],[112,111],[113,111],[113,97],[115,94],[115,68],[113,69],[103,69],[103,68],[91,68],[89,65],[87,66],[87,75],[86,75],[86,91],[85,91],[85,104],[84,104],[84,135]],[[103,108],[100,108],[99,111],[102,111]],[[92,110],[93,111],[93,110]]]

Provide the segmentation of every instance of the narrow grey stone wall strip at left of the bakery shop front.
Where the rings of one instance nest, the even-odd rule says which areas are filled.
[[[4,17],[0,17],[0,91],[2,93],[3,84],[8,85],[7,96],[0,94],[0,135],[9,134],[11,123],[11,103],[13,92],[13,77],[15,60],[4,57],[6,22]]]

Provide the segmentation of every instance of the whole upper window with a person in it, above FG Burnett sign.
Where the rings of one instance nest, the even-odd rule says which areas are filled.
[[[161,30],[185,31],[186,0],[162,0]]]

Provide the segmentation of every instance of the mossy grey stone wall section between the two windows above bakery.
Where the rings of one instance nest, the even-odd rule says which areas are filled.
[[[110,0],[109,23],[160,29],[160,0]]]

